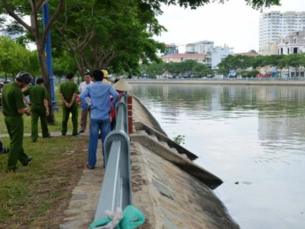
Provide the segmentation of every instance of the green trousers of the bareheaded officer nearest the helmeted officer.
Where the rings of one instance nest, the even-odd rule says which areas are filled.
[[[46,107],[43,104],[33,104],[31,106],[31,112],[32,140],[36,141],[38,138],[38,118],[40,118],[42,136],[47,137],[49,130]]]

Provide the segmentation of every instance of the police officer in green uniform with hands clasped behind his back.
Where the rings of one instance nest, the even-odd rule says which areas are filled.
[[[78,104],[75,101],[78,94],[78,87],[75,83],[73,73],[67,73],[67,81],[60,84],[59,97],[63,101],[63,123],[62,123],[62,135],[67,133],[67,123],[70,113],[72,114],[72,135],[78,135],[77,132],[77,116],[78,116]]]

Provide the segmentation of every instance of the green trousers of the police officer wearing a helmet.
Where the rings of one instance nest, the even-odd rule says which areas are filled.
[[[22,147],[23,118],[22,116],[5,116],[4,121],[11,139],[8,169],[15,169],[17,168],[18,160],[21,164],[26,164],[28,158]]]

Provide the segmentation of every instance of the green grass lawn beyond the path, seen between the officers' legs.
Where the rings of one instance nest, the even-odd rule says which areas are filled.
[[[62,100],[59,98],[59,84],[55,84],[55,99],[56,102],[62,104]],[[78,123],[80,122],[80,113],[81,109],[78,109]],[[55,124],[48,125],[49,132],[60,132],[62,130],[62,120],[63,120],[63,108],[62,106],[58,106],[58,111],[54,111],[55,116]],[[24,133],[31,133],[31,116],[23,115],[24,119]],[[88,127],[88,125],[87,125]],[[79,125],[78,125],[79,128]],[[41,133],[40,120],[38,121],[38,131]],[[72,119],[70,118],[68,121],[68,131],[72,131]],[[4,115],[0,112],[0,134],[7,134],[8,131],[6,129],[6,125],[4,122]]]

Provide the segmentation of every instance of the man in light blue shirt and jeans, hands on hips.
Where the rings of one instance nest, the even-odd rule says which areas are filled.
[[[86,104],[86,106],[86,97],[91,99],[87,162],[87,167],[90,169],[95,168],[97,162],[99,130],[101,130],[102,144],[104,145],[105,137],[110,132],[110,110],[114,109],[118,97],[118,93],[113,89],[111,85],[107,85],[102,82],[104,73],[101,70],[93,71],[92,76],[95,83],[89,85],[79,95],[81,103]],[[113,107],[110,105],[110,95],[113,96]]]

